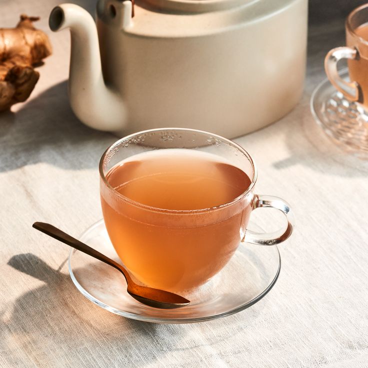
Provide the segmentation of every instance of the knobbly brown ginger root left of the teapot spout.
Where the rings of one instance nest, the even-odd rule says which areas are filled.
[[[29,97],[39,78],[33,66],[51,54],[47,35],[33,26],[38,19],[22,14],[15,28],[0,28],[0,111]]]

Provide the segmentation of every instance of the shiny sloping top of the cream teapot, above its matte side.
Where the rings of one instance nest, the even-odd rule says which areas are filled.
[[[130,1],[98,0],[97,18],[140,37],[196,37],[266,19],[290,4],[306,12],[307,4],[307,0],[135,0],[131,18],[124,12],[125,8],[131,12]],[[108,11],[111,6],[113,14]]]

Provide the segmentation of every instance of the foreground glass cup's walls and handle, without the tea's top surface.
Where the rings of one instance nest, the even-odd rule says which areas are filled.
[[[250,185],[238,197],[216,207],[172,210],[125,197],[106,179],[109,170],[124,159],[172,148],[214,154],[245,172]],[[220,271],[240,243],[275,245],[292,232],[289,205],[278,197],[254,193],[257,171],[250,155],[238,144],[209,132],[162,128],[128,135],[103,153],[99,173],[102,213],[110,240],[131,274],[150,287],[169,291],[195,288]],[[248,230],[250,213],[259,207],[280,210],[286,217],[285,226],[272,233]]]

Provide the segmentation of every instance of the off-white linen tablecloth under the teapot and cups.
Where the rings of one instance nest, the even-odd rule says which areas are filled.
[[[295,109],[235,139],[257,163],[257,192],[284,197],[295,213],[276,285],[235,315],[159,325],[85,299],[67,272],[68,247],[31,227],[46,221],[77,235],[101,218],[97,164],[116,139],[70,110],[69,34],[47,26],[55,4],[0,2],[0,26],[15,25],[20,13],[40,15],[54,47],[29,100],[0,114],[0,366],[368,367],[368,163],[336,148],[309,111],[323,56],[343,43],[343,20],[310,29]],[[267,211],[253,218],[269,227]]]

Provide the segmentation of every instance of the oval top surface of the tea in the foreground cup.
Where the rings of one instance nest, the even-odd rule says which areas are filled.
[[[106,175],[120,194],[156,208],[193,210],[227,203],[250,185],[238,167],[200,151],[152,151],[121,162]]]

